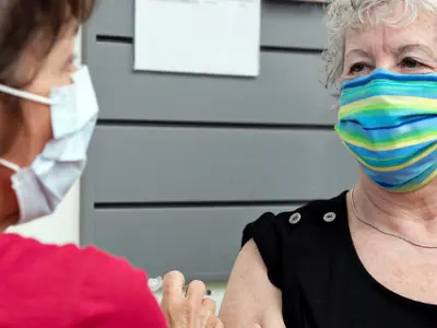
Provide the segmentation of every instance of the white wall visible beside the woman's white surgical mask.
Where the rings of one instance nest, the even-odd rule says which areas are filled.
[[[81,63],[81,34],[75,44],[76,65]],[[78,183],[59,206],[55,214],[34,222],[14,226],[9,233],[17,233],[48,244],[79,244],[80,184]]]

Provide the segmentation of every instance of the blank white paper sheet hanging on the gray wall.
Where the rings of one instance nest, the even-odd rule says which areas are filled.
[[[261,0],[135,0],[134,69],[257,77]]]

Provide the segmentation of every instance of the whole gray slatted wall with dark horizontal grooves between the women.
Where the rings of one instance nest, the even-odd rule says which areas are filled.
[[[151,276],[226,279],[246,223],[355,183],[319,84],[323,7],[264,2],[261,74],[238,79],[133,72],[133,3],[101,1],[84,34],[102,117],[81,243]]]

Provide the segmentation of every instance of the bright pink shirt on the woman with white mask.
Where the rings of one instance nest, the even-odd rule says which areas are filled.
[[[0,235],[0,328],[166,327],[144,271],[94,247]]]

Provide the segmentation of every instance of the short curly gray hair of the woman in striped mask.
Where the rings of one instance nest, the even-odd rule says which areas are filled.
[[[393,3],[403,4],[403,13],[397,20],[390,17]],[[378,14],[375,14],[378,9]],[[406,26],[414,22],[420,10],[437,13],[437,0],[333,0],[329,4],[324,23],[328,45],[323,51],[323,84],[338,87],[343,72],[345,33],[363,26]]]

